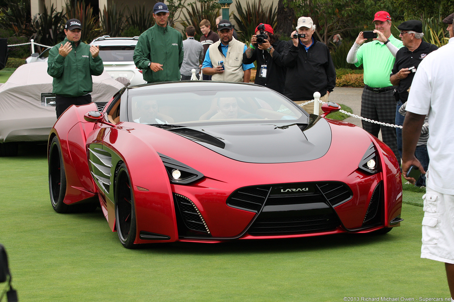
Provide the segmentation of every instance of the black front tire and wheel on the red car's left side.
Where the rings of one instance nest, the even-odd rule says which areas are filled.
[[[136,239],[136,215],[134,209],[134,195],[128,169],[122,163],[115,173],[115,226],[118,239],[127,249],[134,249]]]

